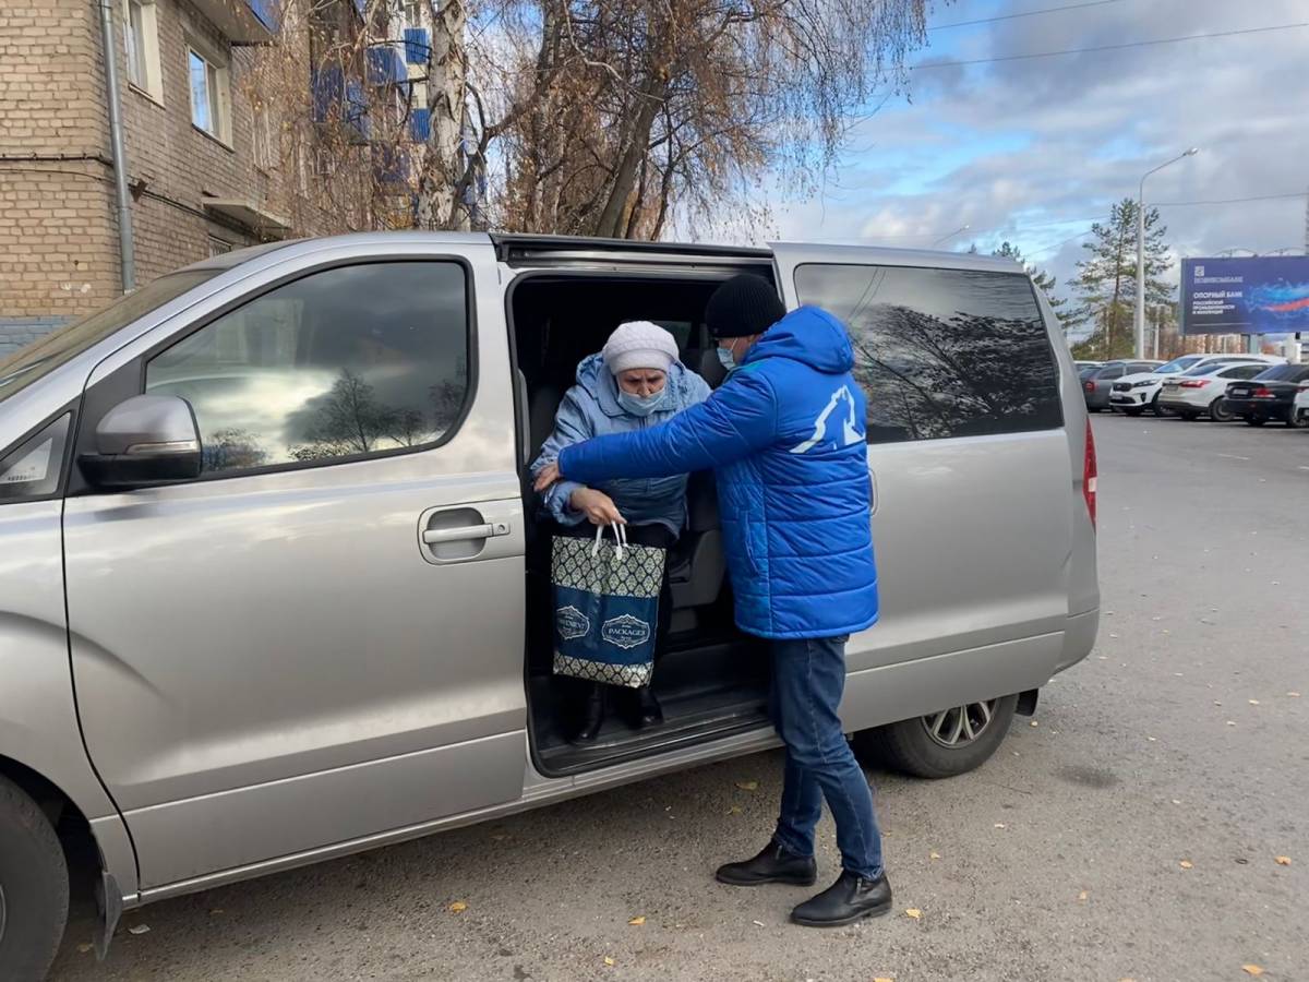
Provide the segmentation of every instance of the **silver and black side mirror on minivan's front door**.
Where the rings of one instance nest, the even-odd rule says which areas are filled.
[[[134,395],[96,427],[96,453],[77,458],[99,488],[153,487],[200,477],[200,432],[191,403],[177,395]]]

